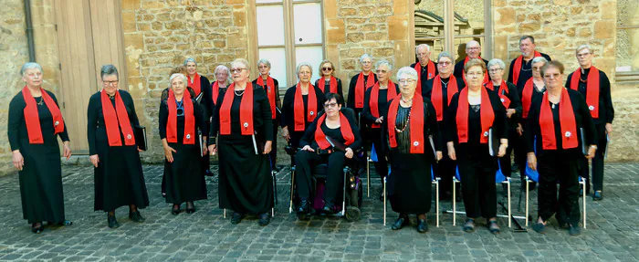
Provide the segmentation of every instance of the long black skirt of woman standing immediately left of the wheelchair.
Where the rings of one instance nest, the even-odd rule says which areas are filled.
[[[262,214],[273,207],[273,178],[268,155],[253,147],[250,136],[218,137],[220,208]]]

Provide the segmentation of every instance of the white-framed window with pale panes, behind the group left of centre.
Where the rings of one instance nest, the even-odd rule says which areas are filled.
[[[296,67],[309,62],[313,78],[324,58],[321,0],[255,0],[257,59],[271,62],[280,89],[297,83]]]

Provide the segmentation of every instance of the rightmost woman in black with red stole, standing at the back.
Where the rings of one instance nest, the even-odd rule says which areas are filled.
[[[583,45],[577,48],[575,55],[580,68],[568,75],[566,88],[578,90],[586,99],[591,111],[594,128],[597,131],[597,152],[592,157],[592,200],[603,199],[603,159],[608,137],[613,133],[614,107],[610,95],[610,80],[606,73],[592,66],[592,48]],[[586,179],[586,194],[590,194],[590,176],[588,175],[588,160],[581,162],[581,176]]]

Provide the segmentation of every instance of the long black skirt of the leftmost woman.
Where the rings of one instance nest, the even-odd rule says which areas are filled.
[[[44,137],[42,144],[20,140],[20,152],[25,159],[25,166],[19,172],[22,215],[31,224],[65,220],[57,138]]]

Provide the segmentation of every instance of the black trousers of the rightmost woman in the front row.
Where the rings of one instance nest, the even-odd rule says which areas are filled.
[[[561,152],[547,153],[538,158],[539,217],[548,221],[554,214],[562,223],[579,226],[579,168],[581,155]],[[560,184],[559,199],[557,183]]]

